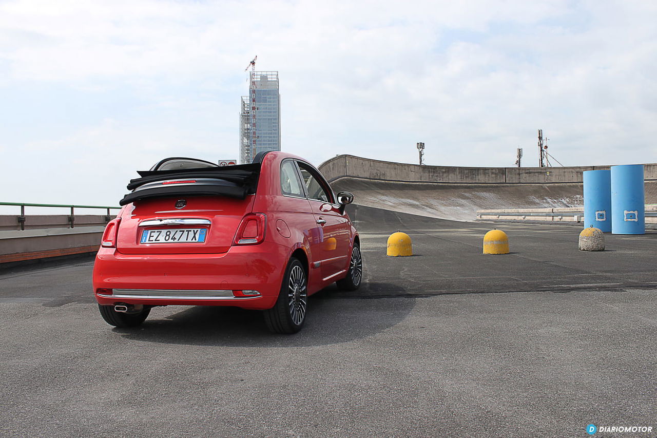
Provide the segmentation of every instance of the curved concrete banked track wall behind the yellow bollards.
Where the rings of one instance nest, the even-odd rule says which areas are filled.
[[[419,166],[338,155],[319,166],[335,191],[366,207],[451,220],[474,220],[477,210],[582,207],[585,167]],[[657,203],[657,164],[645,164],[646,203]]]

